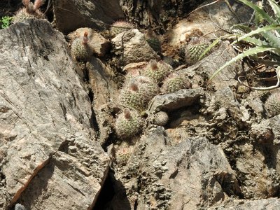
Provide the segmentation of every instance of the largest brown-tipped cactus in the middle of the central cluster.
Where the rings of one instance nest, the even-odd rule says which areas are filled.
[[[148,102],[158,94],[158,85],[145,76],[130,78],[120,91],[120,104],[142,111]]]

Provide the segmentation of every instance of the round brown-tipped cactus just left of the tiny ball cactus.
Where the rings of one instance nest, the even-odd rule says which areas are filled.
[[[121,139],[130,139],[141,132],[144,122],[136,111],[125,108],[116,120],[116,133]]]

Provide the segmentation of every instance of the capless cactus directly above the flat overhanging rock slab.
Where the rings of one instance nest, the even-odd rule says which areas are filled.
[[[172,93],[181,89],[188,89],[191,87],[190,80],[182,76],[172,74],[163,81],[162,92]]]

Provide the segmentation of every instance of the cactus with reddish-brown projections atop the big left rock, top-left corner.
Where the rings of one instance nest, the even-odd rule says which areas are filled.
[[[30,2],[30,0],[22,0],[22,3],[25,8],[18,10],[18,13],[13,17],[13,23],[22,22],[31,18],[45,18],[45,15],[39,10],[43,5],[43,0],[35,0],[34,3]]]

